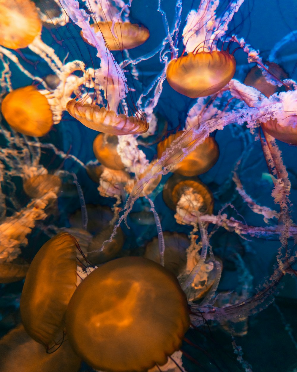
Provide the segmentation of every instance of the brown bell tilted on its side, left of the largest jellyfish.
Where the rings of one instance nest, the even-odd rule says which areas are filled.
[[[63,318],[76,288],[76,244],[66,232],[43,244],[23,287],[20,311],[25,330],[48,348],[63,337]]]

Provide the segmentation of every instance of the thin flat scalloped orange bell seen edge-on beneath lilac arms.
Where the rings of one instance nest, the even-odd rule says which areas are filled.
[[[137,114],[127,116],[123,113],[117,114],[114,110],[99,107],[95,104],[82,103],[75,99],[70,100],[66,105],[71,116],[94,131],[114,134],[141,134],[148,130],[148,123],[143,115]]]

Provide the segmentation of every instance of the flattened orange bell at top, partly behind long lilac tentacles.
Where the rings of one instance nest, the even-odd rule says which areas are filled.
[[[97,22],[91,27],[102,33],[107,48],[114,51],[136,48],[150,37],[148,29],[137,23]]]

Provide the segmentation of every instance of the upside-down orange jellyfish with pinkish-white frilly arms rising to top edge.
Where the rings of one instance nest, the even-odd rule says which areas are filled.
[[[234,55],[217,47],[242,1],[234,3],[221,16],[216,16],[219,3],[208,0],[202,1],[197,11],[190,11],[183,30],[187,55],[172,58],[166,69],[167,81],[177,92],[190,98],[209,96],[219,92],[234,76]]]

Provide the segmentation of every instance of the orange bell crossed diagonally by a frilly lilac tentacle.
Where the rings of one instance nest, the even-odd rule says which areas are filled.
[[[157,154],[160,159],[163,152],[171,146],[176,138],[185,134],[185,131],[179,131],[175,134],[169,135],[164,141],[159,142],[157,145]],[[190,150],[195,145],[196,140],[190,142],[186,147]],[[166,166],[178,161],[184,155],[183,150],[177,149],[174,154],[166,161]],[[179,161],[172,171],[174,173],[182,174],[186,177],[199,176],[212,168],[219,158],[219,146],[214,137],[207,137],[191,151],[186,157]]]

